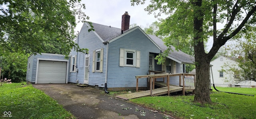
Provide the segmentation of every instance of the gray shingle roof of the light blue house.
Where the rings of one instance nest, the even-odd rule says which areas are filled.
[[[121,29],[116,27],[110,27],[107,25],[101,25],[98,23],[92,23],[95,32],[102,38],[103,41],[109,41],[119,35],[121,35]],[[129,29],[130,30],[130,29]],[[124,31],[127,32],[129,30]],[[164,45],[162,39],[156,37],[155,35],[148,35],[160,48],[161,51],[165,51],[167,47]],[[194,64],[194,57],[172,47],[173,51],[170,51],[169,57],[179,60],[182,63]]]

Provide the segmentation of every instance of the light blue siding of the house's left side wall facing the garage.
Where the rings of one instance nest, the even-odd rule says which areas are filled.
[[[89,81],[88,85],[91,86],[99,86],[104,87],[105,84],[105,76],[106,76],[106,45],[102,43],[100,38],[95,34],[94,31],[90,31],[88,33],[88,25],[84,23],[82,26],[82,29],[78,35],[78,40],[76,40],[76,43],[78,42],[78,45],[80,48],[87,48],[89,49],[88,54],[90,55],[90,68],[89,68]],[[98,49],[104,49],[103,51],[103,72],[94,72],[92,73],[92,59],[93,59],[93,51]],[[70,52],[70,57],[73,55],[77,55],[77,62],[76,62],[76,68],[78,69],[78,72],[70,72],[70,64],[69,64],[69,73],[68,73],[68,82],[76,83],[76,80],[78,80],[79,84],[84,83],[84,67],[85,67],[85,53],[80,53],[74,51],[74,49]],[[71,59],[69,59],[71,60]],[[71,62],[70,62],[71,63]]]

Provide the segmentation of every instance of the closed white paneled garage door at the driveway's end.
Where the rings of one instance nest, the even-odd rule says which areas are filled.
[[[39,60],[38,84],[65,84],[67,62]]]

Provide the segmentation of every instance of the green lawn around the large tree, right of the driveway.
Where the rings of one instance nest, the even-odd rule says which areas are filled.
[[[218,90],[251,94],[256,88],[221,88]],[[131,99],[133,103],[182,119],[256,119],[256,97],[216,92],[210,94],[212,104],[193,103],[194,96],[156,96]]]

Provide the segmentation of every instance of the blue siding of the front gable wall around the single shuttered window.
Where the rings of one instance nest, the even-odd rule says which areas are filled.
[[[140,68],[119,66],[120,49],[140,51]],[[136,87],[135,76],[148,74],[150,53],[160,53],[158,49],[139,29],[109,43],[108,88]],[[139,80],[139,87],[147,87],[147,79]]]

